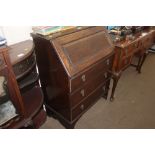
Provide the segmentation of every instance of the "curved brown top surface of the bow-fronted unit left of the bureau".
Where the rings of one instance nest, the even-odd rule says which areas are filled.
[[[24,60],[33,52],[34,45],[32,40],[26,40],[9,46],[9,56],[11,63],[14,65]]]

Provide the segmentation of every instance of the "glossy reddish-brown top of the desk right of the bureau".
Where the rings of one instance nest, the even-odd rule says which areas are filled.
[[[115,46],[116,47],[120,47],[120,48],[125,48],[126,46],[129,46],[130,44],[138,41],[138,40],[141,40],[143,39],[144,37],[152,34],[152,33],[155,33],[155,29],[154,28],[149,28],[149,29],[146,29],[146,30],[143,30],[139,33],[136,33],[133,35],[134,39],[133,40],[122,40],[120,42],[117,42],[115,43]]]

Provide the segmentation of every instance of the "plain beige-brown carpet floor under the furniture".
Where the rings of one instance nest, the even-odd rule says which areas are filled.
[[[109,93],[110,94],[110,93]],[[128,68],[118,83],[115,100],[99,99],[76,123],[75,129],[155,128],[155,54],[149,54],[138,74]],[[42,129],[64,128],[47,118]]]

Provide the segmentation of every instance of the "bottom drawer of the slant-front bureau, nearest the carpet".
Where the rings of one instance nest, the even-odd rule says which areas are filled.
[[[101,97],[105,90],[105,84],[101,84],[89,97],[82,101],[72,110],[72,121],[79,118],[88,108],[90,108]]]

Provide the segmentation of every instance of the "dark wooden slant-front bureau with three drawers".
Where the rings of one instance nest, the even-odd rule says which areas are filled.
[[[103,27],[77,27],[49,36],[31,34],[45,105],[66,128],[101,96],[107,98],[114,58]]]

